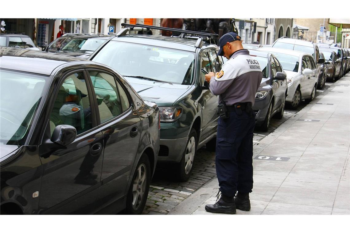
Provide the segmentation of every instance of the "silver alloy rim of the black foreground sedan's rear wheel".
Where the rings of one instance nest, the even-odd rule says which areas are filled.
[[[132,187],[132,195],[133,195],[133,201],[132,201],[132,207],[134,210],[137,210],[144,198],[144,194],[146,191],[146,183],[147,183],[147,169],[146,166],[142,163],[137,168],[136,171],[135,180],[133,181],[133,187]]]

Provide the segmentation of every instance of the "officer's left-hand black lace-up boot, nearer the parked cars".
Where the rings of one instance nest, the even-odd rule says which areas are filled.
[[[214,205],[205,205],[205,210],[210,213],[227,213],[227,214],[235,214],[236,213],[236,205],[233,197],[228,197],[225,195],[219,195],[220,191],[216,195],[216,203]],[[219,200],[219,201],[218,201]]]

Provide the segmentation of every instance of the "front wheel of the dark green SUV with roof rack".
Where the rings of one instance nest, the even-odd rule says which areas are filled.
[[[188,181],[192,174],[194,159],[197,153],[197,133],[195,129],[191,129],[187,139],[186,148],[183,152],[180,163],[175,165],[176,180],[181,182]]]

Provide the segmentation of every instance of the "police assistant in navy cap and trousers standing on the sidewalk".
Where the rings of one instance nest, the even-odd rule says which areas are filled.
[[[262,79],[258,61],[243,49],[241,38],[234,32],[219,40],[219,56],[228,59],[222,70],[205,75],[209,89],[219,95],[216,139],[216,174],[219,181],[217,202],[205,206],[212,213],[236,213],[236,208],[250,210],[249,193],[253,188],[252,106]],[[219,108],[219,106],[221,106]],[[236,191],[238,191],[237,196]],[[220,194],[221,192],[221,194]]]

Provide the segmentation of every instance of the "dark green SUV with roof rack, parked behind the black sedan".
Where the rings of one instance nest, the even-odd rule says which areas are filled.
[[[140,27],[155,28],[130,27],[118,32],[89,59],[111,66],[142,98],[157,103],[161,121],[158,162],[175,168],[173,175],[187,181],[197,148],[205,144],[215,148],[218,96],[210,92],[201,69],[221,70],[218,47],[198,36],[127,35],[130,30],[142,30]]]

